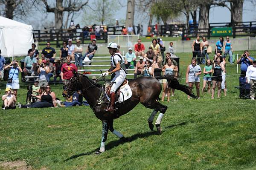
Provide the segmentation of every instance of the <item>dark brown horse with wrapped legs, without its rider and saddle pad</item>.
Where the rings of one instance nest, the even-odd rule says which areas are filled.
[[[131,111],[137,104],[141,103],[146,108],[153,109],[150,117],[148,118],[148,126],[151,131],[154,129],[153,120],[157,112],[160,114],[157,117],[155,126],[159,134],[162,133],[160,123],[163,115],[167,110],[167,106],[160,104],[157,99],[162,90],[162,86],[158,79],[166,79],[169,84],[169,88],[181,90],[192,98],[197,98],[192,92],[189,86],[180,84],[173,75],[164,75],[157,78],[141,76],[128,82],[131,87],[132,96],[125,101],[125,104],[115,104],[116,110],[114,114],[106,111],[108,107],[108,100],[105,95],[105,87],[90,80],[86,75],[81,75],[76,72],[73,73],[73,77],[69,83],[64,87],[62,92],[63,97],[68,97],[74,92],[80,91],[83,97],[90,104],[91,109],[98,119],[102,121],[102,141],[100,150],[95,154],[105,152],[105,141],[107,140],[108,130],[114,135],[120,138],[122,141],[127,141],[122,133],[113,128],[113,120]],[[102,99],[100,104],[99,100]],[[118,116],[116,116],[118,115]]]

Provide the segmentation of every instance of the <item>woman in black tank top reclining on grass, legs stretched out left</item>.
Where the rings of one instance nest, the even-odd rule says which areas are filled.
[[[56,107],[56,96],[55,93],[51,91],[49,85],[46,86],[46,91],[43,92],[41,95],[32,95],[38,99],[41,99],[39,102],[35,102],[33,104],[20,104],[18,103],[19,108],[45,108],[45,107]]]

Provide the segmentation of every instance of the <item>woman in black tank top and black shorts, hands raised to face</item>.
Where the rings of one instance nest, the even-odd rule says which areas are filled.
[[[220,52],[217,53],[216,63],[213,63],[212,65],[212,99],[214,99],[214,92],[216,86],[218,86],[218,98],[221,96],[221,82],[222,82],[222,76],[221,72],[225,71],[224,66],[221,64],[221,57]]]

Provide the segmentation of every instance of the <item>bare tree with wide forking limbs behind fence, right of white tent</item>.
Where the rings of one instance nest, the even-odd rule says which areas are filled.
[[[50,7],[47,3],[47,0],[42,0],[46,11],[52,12],[55,15],[55,29],[62,29],[63,26],[63,12],[72,12],[72,11],[80,11],[84,6],[87,5],[88,0],[86,0],[84,3],[81,3],[80,0],[67,0],[68,4],[67,6],[63,6],[63,0],[55,0],[56,6]]]

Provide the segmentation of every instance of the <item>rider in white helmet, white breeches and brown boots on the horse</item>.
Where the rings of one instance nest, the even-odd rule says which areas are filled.
[[[125,81],[126,69],[122,55],[118,53],[117,44],[114,42],[109,43],[108,51],[111,55],[111,67],[110,69],[108,69],[107,72],[103,73],[103,76],[112,75],[113,73],[115,73],[115,76],[112,79],[112,82],[114,83],[110,89],[110,107],[108,107],[108,112],[113,113],[115,110],[116,89]]]

